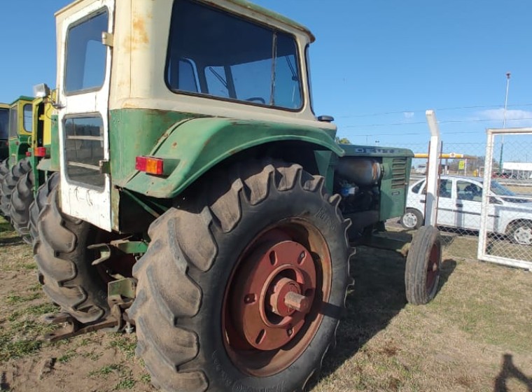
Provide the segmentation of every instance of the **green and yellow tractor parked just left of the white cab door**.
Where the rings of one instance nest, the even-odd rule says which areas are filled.
[[[36,88],[37,98],[31,102],[29,97],[18,99],[11,106],[10,165],[1,183],[3,214],[29,244],[37,236],[39,211],[50,188],[59,181],[57,175],[53,176],[59,170],[59,153],[51,153],[53,94],[44,85]],[[57,126],[53,136],[58,137]],[[57,148],[57,141],[54,145]]]

